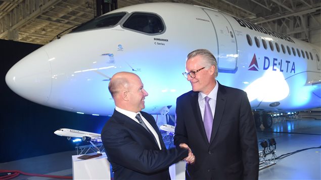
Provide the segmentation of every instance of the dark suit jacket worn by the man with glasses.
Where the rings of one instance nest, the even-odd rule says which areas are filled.
[[[210,143],[198,94],[190,91],[176,101],[174,143],[186,143],[195,155],[186,178],[258,179],[256,128],[247,94],[219,84]]]

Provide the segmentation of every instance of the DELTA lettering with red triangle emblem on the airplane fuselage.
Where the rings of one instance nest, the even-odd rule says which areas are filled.
[[[273,60],[270,61],[268,57],[264,56],[263,70],[268,70],[270,66],[272,67],[272,71],[280,71],[280,72],[295,74],[294,62],[284,61],[278,58],[273,58]],[[259,71],[259,66],[257,64],[257,59],[255,54],[253,55],[253,58],[248,70]]]

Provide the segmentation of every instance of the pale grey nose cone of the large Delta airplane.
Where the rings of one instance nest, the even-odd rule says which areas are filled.
[[[39,104],[47,103],[52,87],[47,53],[40,49],[16,63],[6,75],[6,83],[18,95]]]

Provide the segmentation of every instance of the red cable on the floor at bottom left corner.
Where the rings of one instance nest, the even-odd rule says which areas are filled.
[[[9,180],[14,177],[17,177],[20,174],[29,175],[29,176],[39,176],[39,177],[72,179],[72,176],[33,174],[33,173],[22,172],[20,170],[0,170],[0,180]]]

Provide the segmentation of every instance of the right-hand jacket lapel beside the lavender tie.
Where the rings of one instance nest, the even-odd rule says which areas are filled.
[[[222,116],[224,112],[224,107],[226,104],[226,91],[224,86],[218,85],[218,91],[217,91],[217,97],[216,97],[216,106],[215,106],[215,114],[214,114],[214,120],[213,120],[213,127],[212,127],[212,133],[211,133],[211,140],[210,143],[213,142],[213,139],[216,136],[218,127],[222,121]]]

